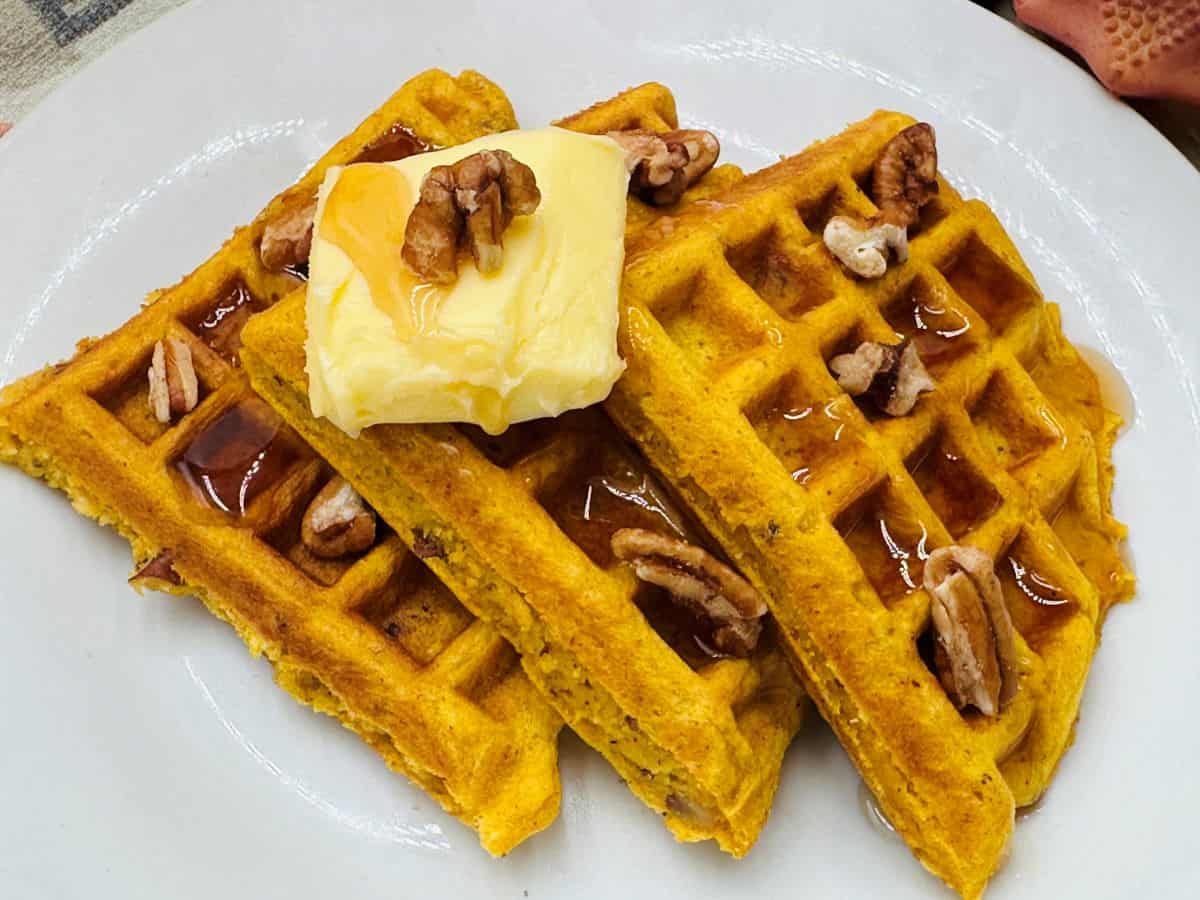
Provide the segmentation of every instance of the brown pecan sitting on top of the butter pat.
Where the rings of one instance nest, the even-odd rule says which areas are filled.
[[[436,284],[458,277],[458,247],[466,242],[481,272],[500,268],[502,235],[514,216],[541,203],[533,169],[505,150],[480,150],[454,166],[436,166],[404,228],[401,257]]]

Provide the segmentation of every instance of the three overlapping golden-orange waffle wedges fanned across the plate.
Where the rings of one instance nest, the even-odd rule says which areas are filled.
[[[7,388],[0,452],[120,530],[136,586],[200,596],[493,853],[553,818],[565,720],[678,838],[744,854],[803,683],[918,858],[976,896],[1070,743],[1104,613],[1132,593],[1109,506],[1120,422],[983,204],[942,182],[910,260],[876,282],[824,250],[830,216],[875,212],[862,186],[911,121],[877,113],[750,176],[718,167],[672,208],[631,199],[629,368],[602,408],[499,438],[352,439],[310,414],[302,282],[265,271],[258,242],[329,166],[516,127],[481,76],[426,72],[126,325]],[[558,124],[678,125],[654,84]],[[928,338],[938,386],[884,421],[827,361],[896,334]],[[145,372],[168,336],[191,348],[200,402],[163,426]],[[251,460],[251,488],[209,484],[197,448]],[[335,472],[386,528],[329,562],[299,518]],[[673,634],[612,557],[626,526],[685,533],[758,588],[774,625],[750,658]],[[955,542],[997,560],[1020,632],[1020,690],[994,719],[956,710],[924,659],[922,565]]]

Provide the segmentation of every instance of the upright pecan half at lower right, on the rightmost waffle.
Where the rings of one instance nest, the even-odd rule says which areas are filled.
[[[935,550],[925,562],[937,632],[937,677],[959,709],[998,714],[1020,683],[1016,632],[995,563],[978,547]]]

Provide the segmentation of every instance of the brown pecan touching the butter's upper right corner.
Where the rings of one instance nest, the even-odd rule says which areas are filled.
[[[610,131],[608,137],[625,151],[629,190],[655,206],[678,203],[683,192],[716,164],[721,143],[710,131],[679,128]]]

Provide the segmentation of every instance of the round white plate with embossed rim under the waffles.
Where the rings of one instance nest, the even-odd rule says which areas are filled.
[[[0,142],[0,380],[127,318],[426,66],[541,124],[660,79],[726,158],[768,163],[876,107],[937,126],[1068,332],[1136,398],[1117,446],[1135,605],[1109,620],[1076,746],[991,896],[1195,896],[1200,856],[1200,178],[1055,52],[966,2],[193,2]],[[757,8],[751,8],[757,7]],[[125,587],[124,544],[0,472],[0,895],[928,896],[811,724],[742,863],[680,846],[574,738],[563,811],[503,862],[298,706],[198,604]]]

